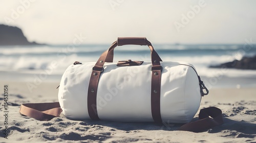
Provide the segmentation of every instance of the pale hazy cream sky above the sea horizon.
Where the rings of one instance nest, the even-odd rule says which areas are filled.
[[[29,41],[111,44],[117,37],[152,43],[256,42],[256,1],[0,0],[0,23]],[[86,37],[86,38],[85,38]]]

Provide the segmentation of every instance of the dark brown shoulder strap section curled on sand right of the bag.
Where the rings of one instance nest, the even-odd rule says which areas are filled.
[[[209,117],[211,116],[211,117]],[[200,110],[199,120],[185,124],[179,128],[181,131],[202,132],[223,124],[222,111],[216,107],[208,107]]]

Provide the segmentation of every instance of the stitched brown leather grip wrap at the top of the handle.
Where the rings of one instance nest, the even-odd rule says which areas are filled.
[[[146,38],[145,37],[118,37],[117,38],[117,45],[127,45],[127,44],[146,45]]]

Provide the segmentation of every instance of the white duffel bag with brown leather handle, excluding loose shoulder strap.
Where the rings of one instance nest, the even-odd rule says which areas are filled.
[[[148,45],[152,61],[113,62],[120,45]],[[146,38],[118,38],[95,62],[75,62],[63,74],[58,99],[74,120],[188,123],[199,109],[203,85],[196,68],[162,61]]]

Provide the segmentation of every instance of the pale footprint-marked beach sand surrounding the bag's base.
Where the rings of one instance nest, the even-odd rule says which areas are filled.
[[[37,121],[19,114],[23,103],[56,102],[56,82],[28,89],[26,82],[8,84],[8,130],[5,137],[3,94],[0,97],[0,142],[256,142],[256,88],[213,88],[202,98],[200,109],[215,106],[223,111],[224,124],[201,133],[177,131],[181,125],[72,121],[65,116]],[[194,117],[197,120],[198,113]]]

